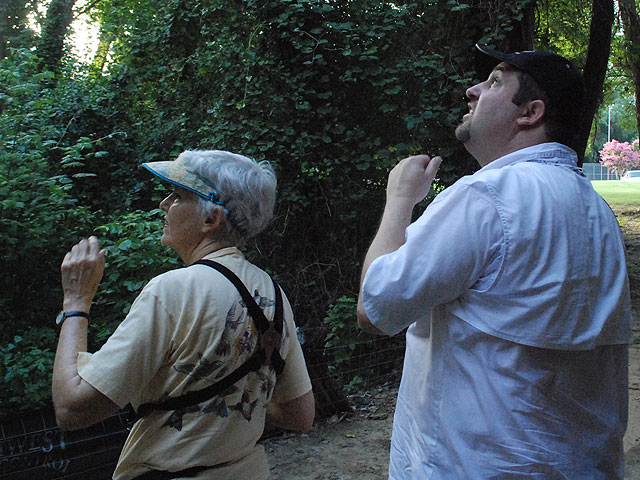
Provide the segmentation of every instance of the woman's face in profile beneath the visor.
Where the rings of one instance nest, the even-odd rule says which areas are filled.
[[[160,202],[166,212],[161,242],[171,247],[184,260],[202,241],[203,222],[198,214],[198,198],[180,187]]]

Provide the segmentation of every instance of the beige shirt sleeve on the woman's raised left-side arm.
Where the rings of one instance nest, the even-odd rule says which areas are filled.
[[[135,300],[129,314],[96,353],[78,355],[78,374],[86,382],[124,407],[137,407],[145,387],[167,361],[175,325],[152,280]]]

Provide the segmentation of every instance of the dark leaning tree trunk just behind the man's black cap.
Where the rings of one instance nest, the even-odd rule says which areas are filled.
[[[583,70],[586,98],[582,115],[577,119],[579,133],[576,144],[573,145],[573,148],[578,153],[578,166],[582,166],[584,152],[591,133],[591,124],[602,101],[602,89],[611,53],[613,19],[613,0],[593,0],[589,47]]]

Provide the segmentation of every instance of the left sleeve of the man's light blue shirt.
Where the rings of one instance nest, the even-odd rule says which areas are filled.
[[[469,288],[488,288],[503,251],[502,221],[489,192],[456,184],[407,228],[402,247],[371,264],[362,285],[367,316],[394,335]]]

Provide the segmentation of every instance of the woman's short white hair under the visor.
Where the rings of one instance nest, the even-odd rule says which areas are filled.
[[[276,175],[267,161],[256,162],[224,150],[187,150],[180,157],[189,169],[215,186],[227,210],[227,240],[242,245],[260,233],[273,218]],[[208,216],[223,208],[197,197],[199,212]]]

